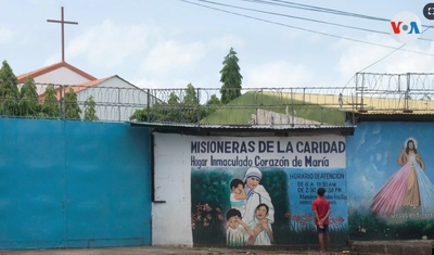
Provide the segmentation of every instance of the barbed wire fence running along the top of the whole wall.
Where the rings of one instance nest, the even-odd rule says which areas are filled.
[[[71,119],[68,106],[79,107],[77,120],[93,109],[99,122],[148,122],[189,125],[344,125],[354,114],[434,114],[434,74],[358,73],[352,87],[242,88],[228,104],[220,88],[141,89],[35,84],[38,99],[8,94],[0,81],[0,116]],[[23,85],[18,85],[18,91]],[[58,114],[47,112],[47,88],[55,91]],[[76,94],[68,101],[65,94]],[[90,106],[89,99],[93,104]],[[214,103],[210,103],[214,102]],[[29,110],[30,107],[30,110]],[[33,109],[31,109],[33,107]]]

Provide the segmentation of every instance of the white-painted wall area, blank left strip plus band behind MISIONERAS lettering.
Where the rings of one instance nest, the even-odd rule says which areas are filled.
[[[210,163],[210,157],[222,161],[235,160],[238,157],[241,160],[245,158],[251,162],[248,163],[248,166],[258,167],[270,167],[270,164],[272,163],[277,164],[272,165],[273,168],[291,168],[298,170],[299,173],[303,173],[304,169],[328,170],[333,168],[344,169],[346,167],[345,137],[337,135],[294,137],[201,137],[154,132],[153,136],[153,181],[155,201],[165,202],[153,203],[152,205],[153,245],[193,245],[191,226],[192,170],[209,170],[215,167],[226,167],[238,170],[241,167],[244,175],[244,166],[217,166],[215,163],[213,163],[213,165]],[[199,143],[206,144],[206,142],[216,141],[228,142],[222,149],[225,150],[224,152],[207,151],[206,145],[197,146]],[[241,150],[241,144],[245,144],[245,146],[243,146],[245,150]],[[334,149],[330,150],[332,144]],[[326,145],[328,149],[323,149]],[[314,165],[307,163],[307,157],[310,158],[309,162]],[[193,158],[195,158],[194,162]],[[206,161],[206,163],[199,166],[195,163],[196,160]],[[237,162],[239,161],[237,160]],[[279,163],[279,165],[276,162],[281,163]],[[298,165],[294,165],[294,162],[298,163]],[[317,162],[320,162],[321,164],[315,165]],[[308,212],[310,212],[309,206],[310,205],[307,206]]]

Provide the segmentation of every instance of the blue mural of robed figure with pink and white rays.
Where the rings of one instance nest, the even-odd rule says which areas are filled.
[[[348,138],[352,239],[434,234],[432,125],[366,123]],[[349,146],[349,145],[348,145]]]

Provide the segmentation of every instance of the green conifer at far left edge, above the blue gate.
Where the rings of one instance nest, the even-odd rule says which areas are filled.
[[[2,115],[14,116],[18,110],[18,79],[7,61],[0,69],[0,110]]]

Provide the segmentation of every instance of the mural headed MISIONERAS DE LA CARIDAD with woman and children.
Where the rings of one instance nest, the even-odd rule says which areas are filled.
[[[320,187],[332,242],[345,242],[345,137],[193,137],[189,150],[194,244],[317,244],[311,203]]]

